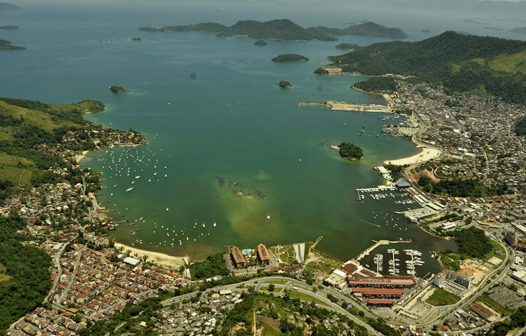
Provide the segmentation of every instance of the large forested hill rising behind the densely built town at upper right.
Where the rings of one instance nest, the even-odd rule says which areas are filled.
[[[401,74],[450,92],[489,92],[526,103],[526,42],[445,32],[419,42],[386,42],[333,56],[346,72]]]

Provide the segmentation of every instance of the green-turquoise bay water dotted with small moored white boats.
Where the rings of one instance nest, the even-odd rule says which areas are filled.
[[[356,188],[382,183],[374,165],[418,151],[408,140],[381,133],[388,122],[382,114],[298,107],[306,100],[383,101],[351,90],[363,78],[313,74],[337,53],[336,43],[256,47],[246,38],[136,30],[133,36],[142,41],[132,42],[134,22],[100,23],[89,32],[82,21],[77,25],[76,34],[55,34],[58,40],[36,28],[21,34],[33,48],[16,58],[2,56],[13,78],[3,84],[4,95],[99,99],[109,109],[92,120],[147,136],[145,146],[99,151],[83,161],[103,173],[100,202],[117,220],[132,223],[112,232],[116,240],[195,259],[229,244],[254,247],[321,235],[320,249],[341,259],[377,239],[412,239],[412,247],[423,251],[451,247],[394,214],[410,205],[357,200]],[[270,61],[292,52],[310,61]],[[280,80],[294,87],[280,89]],[[111,84],[130,93],[113,95]],[[365,158],[341,160],[328,148],[341,141],[362,147]],[[429,253],[425,260],[426,271],[435,272]]]

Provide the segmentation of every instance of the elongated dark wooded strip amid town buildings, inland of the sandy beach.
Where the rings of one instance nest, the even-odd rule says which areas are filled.
[[[428,193],[452,197],[490,197],[504,195],[505,185],[487,186],[479,180],[447,179],[434,182],[428,176],[418,179],[418,185]]]

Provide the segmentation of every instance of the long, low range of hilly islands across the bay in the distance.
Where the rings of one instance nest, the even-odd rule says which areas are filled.
[[[248,36],[254,39],[278,39],[287,41],[335,41],[336,36],[362,35],[403,39],[407,35],[399,28],[387,28],[373,22],[353,25],[348,28],[328,28],[324,26],[303,28],[288,20],[278,19],[266,22],[242,20],[228,27],[215,22],[205,22],[183,26],[165,26],[162,28],[142,27],[146,32],[208,32],[219,37]]]

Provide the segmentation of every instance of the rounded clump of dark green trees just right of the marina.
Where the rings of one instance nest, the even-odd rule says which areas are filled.
[[[458,251],[465,256],[484,260],[486,255],[493,250],[491,239],[483,230],[470,227],[454,233]]]

